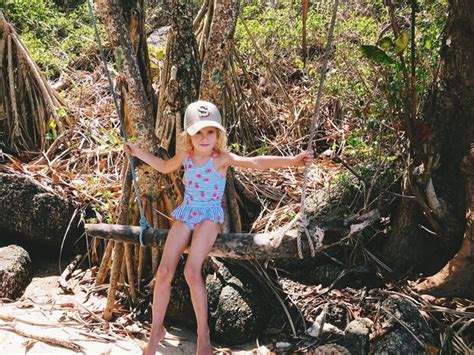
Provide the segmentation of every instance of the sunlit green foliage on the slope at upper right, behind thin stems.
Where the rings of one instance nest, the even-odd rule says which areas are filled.
[[[301,52],[301,3],[284,0],[276,7],[256,0],[246,3],[241,9],[235,39],[239,52],[252,58],[251,70],[255,73],[265,70],[260,49],[278,68],[281,77],[302,71],[303,79],[295,85],[308,83],[308,95],[314,97],[332,2],[310,5],[306,64]],[[416,90],[418,107],[422,107],[439,62],[447,1],[418,0],[418,5]],[[327,143],[342,152],[354,169],[368,178],[374,171],[384,171],[384,178],[397,179],[403,170],[400,155],[405,138],[401,127],[406,113],[402,97],[406,92],[404,70],[410,71],[410,11],[409,3],[397,3],[395,15],[400,35],[395,37],[382,1],[367,1],[364,6],[340,2],[324,95],[333,96],[342,107],[341,115],[331,116],[334,124],[340,128],[349,123],[351,128]],[[238,152],[238,148],[234,150]]]

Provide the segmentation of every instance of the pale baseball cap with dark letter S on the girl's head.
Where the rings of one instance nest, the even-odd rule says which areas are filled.
[[[190,103],[184,113],[184,129],[194,136],[204,127],[216,127],[226,133],[216,105],[202,100]]]

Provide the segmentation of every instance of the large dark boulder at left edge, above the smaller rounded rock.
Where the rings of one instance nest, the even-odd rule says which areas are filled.
[[[27,242],[59,247],[75,242],[84,229],[76,206],[53,190],[23,175],[0,173],[0,231],[21,235]]]

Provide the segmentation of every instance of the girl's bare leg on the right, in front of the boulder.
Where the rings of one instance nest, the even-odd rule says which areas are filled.
[[[202,278],[201,269],[204,259],[211,250],[217,234],[219,225],[212,221],[203,221],[193,234],[191,248],[189,250],[184,277],[191,291],[194,313],[197,320],[197,350],[198,355],[212,354],[211,339],[209,336],[209,325],[207,323],[207,290]]]

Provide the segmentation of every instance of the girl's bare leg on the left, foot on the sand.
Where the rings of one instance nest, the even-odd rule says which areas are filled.
[[[153,290],[153,307],[151,334],[148,344],[143,351],[144,355],[154,355],[158,344],[165,337],[166,330],[163,326],[166,308],[170,300],[171,281],[173,280],[176,266],[184,249],[189,245],[191,231],[183,222],[175,222],[171,227],[165,242],[160,266],[155,276]]]

